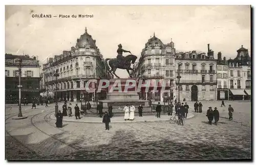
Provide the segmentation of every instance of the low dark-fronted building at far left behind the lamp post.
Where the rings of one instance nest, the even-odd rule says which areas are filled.
[[[19,60],[22,60],[19,63]],[[31,102],[40,93],[40,65],[36,57],[29,55],[5,54],[5,98],[7,104],[18,103],[19,98],[19,65],[21,67],[20,85],[22,85],[22,99]]]

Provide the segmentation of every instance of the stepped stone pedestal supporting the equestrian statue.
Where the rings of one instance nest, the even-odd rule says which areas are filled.
[[[131,104],[133,104],[134,106],[138,106],[139,104],[143,106],[148,106],[148,100],[139,100],[139,94],[137,93],[138,81],[136,81],[136,85],[134,88],[128,89],[128,91],[124,91],[127,80],[136,81],[136,79],[109,80],[110,81],[109,93],[106,96],[106,100],[99,100],[99,102],[103,104],[103,107],[108,107],[108,105],[125,106],[125,105],[131,105]],[[115,82],[120,82],[120,83],[117,83],[116,86],[121,85],[122,90],[121,91],[113,90],[113,92],[110,92]]]

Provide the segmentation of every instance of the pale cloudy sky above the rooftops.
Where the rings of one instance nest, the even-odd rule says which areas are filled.
[[[59,14],[70,18],[53,17]],[[93,18],[72,18],[73,14]],[[207,52],[210,43],[216,59],[218,52],[229,59],[237,56],[241,45],[250,55],[250,19],[250,6],[6,6],[5,52],[38,56],[46,63],[47,57],[75,46],[87,27],[104,58],[115,58],[119,43],[139,58],[155,32],[165,44],[172,38],[176,52]],[[121,69],[116,74],[128,76]]]

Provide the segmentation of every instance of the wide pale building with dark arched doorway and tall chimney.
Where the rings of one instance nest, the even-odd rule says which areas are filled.
[[[177,53],[175,58],[176,75],[180,75],[180,100],[201,101],[216,100],[216,66],[214,51],[197,53],[196,51]],[[178,80],[176,80],[178,85]],[[176,90],[178,96],[178,90]]]

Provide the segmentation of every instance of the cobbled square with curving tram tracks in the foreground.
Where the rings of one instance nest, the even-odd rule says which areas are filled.
[[[6,158],[250,159],[251,105],[230,103],[234,107],[233,121],[226,119],[227,107],[212,102],[203,104],[203,113],[193,112],[196,116],[184,126],[168,122],[113,123],[109,131],[103,124],[81,123],[63,123],[63,128],[58,129],[49,118],[54,104],[49,109],[39,106],[37,110],[23,110],[28,119],[12,120],[10,116],[17,111],[13,107],[6,110]],[[208,106],[219,108],[217,126],[206,124]]]

